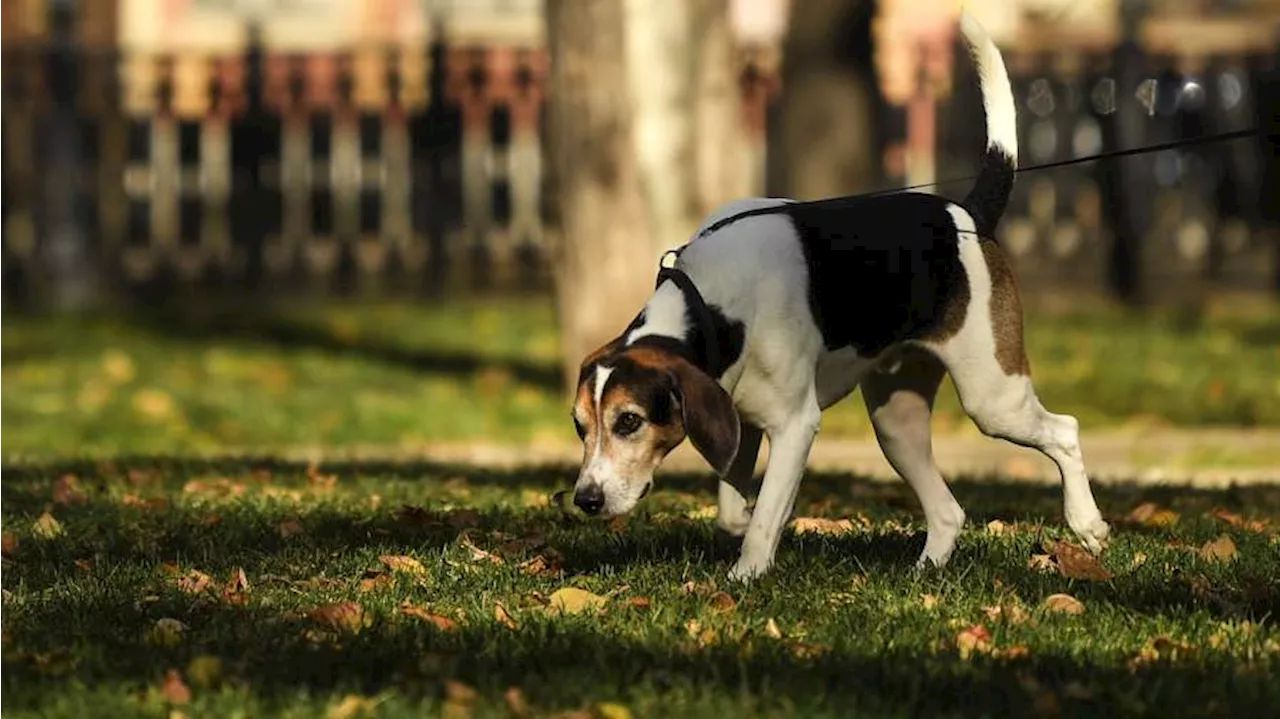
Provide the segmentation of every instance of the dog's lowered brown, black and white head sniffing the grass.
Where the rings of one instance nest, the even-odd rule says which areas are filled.
[[[573,425],[582,439],[573,504],[603,517],[631,512],[686,436],[723,476],[740,431],[733,400],[709,375],[675,352],[618,342],[582,362]]]

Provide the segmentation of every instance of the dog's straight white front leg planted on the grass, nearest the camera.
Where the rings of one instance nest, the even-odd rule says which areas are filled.
[[[796,490],[804,475],[809,448],[818,434],[822,411],[810,397],[777,431],[769,432],[769,463],[764,470],[764,484],[755,503],[755,512],[742,539],[742,553],[730,571],[730,580],[750,581],[763,574],[773,564],[773,554],[782,539],[782,527],[791,518]]]

